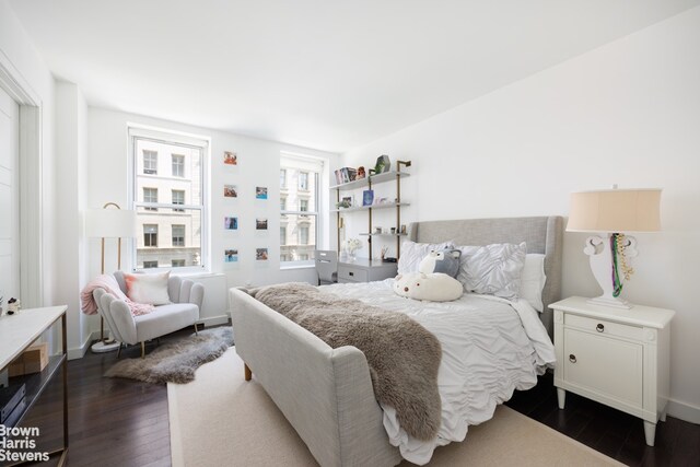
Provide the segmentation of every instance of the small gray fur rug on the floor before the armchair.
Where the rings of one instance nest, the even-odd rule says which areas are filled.
[[[205,329],[175,342],[155,348],[144,359],[124,359],[115,363],[105,376],[127,377],[147,383],[189,383],[199,366],[221,357],[233,346],[230,326]]]

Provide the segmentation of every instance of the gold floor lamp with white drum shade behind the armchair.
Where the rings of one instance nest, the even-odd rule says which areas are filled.
[[[136,211],[121,209],[116,202],[107,202],[102,209],[89,209],[85,214],[86,235],[91,238],[102,238],[101,273],[105,273],[105,238],[117,238],[117,269],[121,269],[121,238],[136,236]],[[100,341],[90,349],[101,353],[118,348],[119,342],[109,342],[105,338],[105,320],[100,316]]]

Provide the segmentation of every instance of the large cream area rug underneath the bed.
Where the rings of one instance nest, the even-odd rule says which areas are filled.
[[[168,384],[173,466],[318,465],[282,412],[229,349],[187,385]],[[192,408],[196,407],[196,410]],[[401,466],[412,464],[404,462]],[[621,466],[505,406],[469,427],[467,440],[438,447],[429,466]]]

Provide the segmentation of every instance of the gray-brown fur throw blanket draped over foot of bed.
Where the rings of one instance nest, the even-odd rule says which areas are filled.
[[[402,313],[319,292],[306,283],[249,291],[259,302],[318,336],[334,349],[354,346],[368,359],[374,395],[394,407],[406,432],[421,441],[440,429],[440,341]]]

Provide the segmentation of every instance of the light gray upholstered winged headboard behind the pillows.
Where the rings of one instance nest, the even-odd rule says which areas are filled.
[[[544,253],[547,283],[542,291],[545,311],[540,318],[552,336],[552,312],[548,305],[561,297],[563,218],[551,215],[415,222],[410,224],[409,235],[413,242],[453,241],[455,245],[525,242],[527,253]]]

